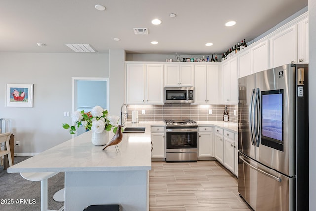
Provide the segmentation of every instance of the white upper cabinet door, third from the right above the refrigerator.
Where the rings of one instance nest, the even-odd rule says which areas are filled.
[[[269,69],[269,40],[251,47],[251,70],[257,73]]]

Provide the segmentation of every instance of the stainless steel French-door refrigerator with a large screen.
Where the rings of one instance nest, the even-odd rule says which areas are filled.
[[[238,79],[240,196],[255,211],[308,210],[308,64]]]

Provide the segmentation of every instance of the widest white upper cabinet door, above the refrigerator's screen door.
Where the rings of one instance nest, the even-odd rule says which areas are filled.
[[[297,25],[278,32],[269,42],[270,68],[297,63]]]

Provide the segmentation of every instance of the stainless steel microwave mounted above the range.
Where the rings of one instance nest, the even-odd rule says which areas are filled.
[[[193,103],[194,87],[165,87],[164,103]]]

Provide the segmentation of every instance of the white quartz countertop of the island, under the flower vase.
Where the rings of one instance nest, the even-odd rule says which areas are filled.
[[[91,142],[92,131],[70,139],[38,155],[8,168],[17,172],[69,172],[69,171],[129,171],[151,169],[150,127],[143,134],[123,134],[114,146],[95,146]],[[109,132],[110,140],[114,135]],[[44,140],[44,139],[43,139]]]

